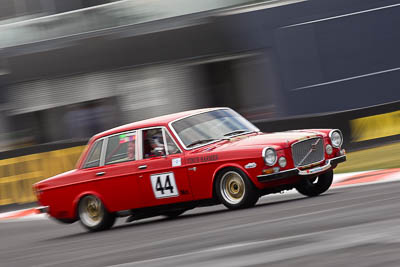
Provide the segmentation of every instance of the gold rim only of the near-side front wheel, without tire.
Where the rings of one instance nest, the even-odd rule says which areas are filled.
[[[230,204],[238,204],[245,194],[245,184],[241,175],[230,171],[225,173],[221,179],[222,196]]]

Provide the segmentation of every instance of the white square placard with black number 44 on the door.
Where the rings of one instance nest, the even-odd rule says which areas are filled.
[[[154,196],[156,198],[178,196],[178,188],[173,172],[153,174],[150,176]]]

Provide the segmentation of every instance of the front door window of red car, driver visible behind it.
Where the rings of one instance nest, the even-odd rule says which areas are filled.
[[[143,130],[143,158],[165,155],[162,128]]]

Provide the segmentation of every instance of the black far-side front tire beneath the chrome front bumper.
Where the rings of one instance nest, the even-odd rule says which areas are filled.
[[[332,181],[333,181],[333,171],[331,170],[319,175],[315,179],[306,178],[302,180],[296,186],[296,190],[300,194],[303,194],[305,196],[315,197],[328,190],[329,187],[332,185]]]

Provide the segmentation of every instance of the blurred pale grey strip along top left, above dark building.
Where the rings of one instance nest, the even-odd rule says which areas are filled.
[[[0,49],[121,26],[206,12],[260,0],[124,0],[5,25]],[[268,2],[268,1],[267,1]]]

